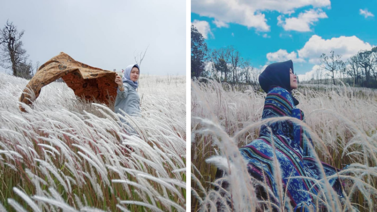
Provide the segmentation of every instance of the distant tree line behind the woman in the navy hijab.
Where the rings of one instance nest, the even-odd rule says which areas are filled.
[[[334,51],[319,56],[320,68],[312,74],[309,83],[323,83],[336,78],[351,86],[377,88],[377,47],[362,50],[346,61]],[[198,30],[191,26],[191,77],[206,77],[230,84],[258,85],[261,70],[254,68],[250,59],[241,57],[233,46],[210,50]],[[302,81],[302,79],[300,79]]]

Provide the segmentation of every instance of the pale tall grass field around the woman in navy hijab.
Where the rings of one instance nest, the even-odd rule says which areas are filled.
[[[192,81],[191,92],[192,211],[293,211],[285,190],[276,196],[281,205],[257,197],[256,185],[268,186],[250,177],[238,151],[258,138],[261,125],[285,119],[261,120],[266,93],[211,80]],[[312,211],[377,211],[377,91],[301,84],[293,95],[305,113],[305,122],[296,122],[313,139],[316,160],[342,169],[318,181]],[[335,177],[343,198],[328,183]]]

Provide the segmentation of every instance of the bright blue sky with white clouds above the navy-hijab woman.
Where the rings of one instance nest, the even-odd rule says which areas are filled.
[[[261,70],[293,59],[304,78],[318,68],[322,53],[333,50],[346,60],[376,46],[376,16],[376,0],[193,0],[191,21],[209,48],[233,45]]]

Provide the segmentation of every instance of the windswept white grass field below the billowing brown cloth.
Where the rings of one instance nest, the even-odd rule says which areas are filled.
[[[141,75],[141,117],[0,74],[0,211],[185,211],[185,76]],[[139,136],[129,135],[126,119]]]

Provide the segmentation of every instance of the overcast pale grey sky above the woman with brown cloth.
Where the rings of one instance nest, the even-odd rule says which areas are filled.
[[[185,1],[177,0],[12,0],[1,4],[0,27],[9,19],[25,30],[24,49],[34,65],[65,52],[91,66],[121,70],[149,45],[141,73],[186,75],[185,13]]]

